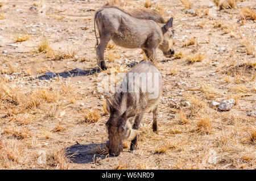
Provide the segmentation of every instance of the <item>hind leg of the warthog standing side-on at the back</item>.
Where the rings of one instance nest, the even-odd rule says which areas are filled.
[[[100,37],[100,44],[98,44],[98,46],[96,48],[98,68],[100,68],[100,70],[107,69],[106,65],[105,65],[105,61],[104,61],[104,50],[105,50],[106,46],[108,45],[110,39],[111,39],[110,35],[101,36]]]

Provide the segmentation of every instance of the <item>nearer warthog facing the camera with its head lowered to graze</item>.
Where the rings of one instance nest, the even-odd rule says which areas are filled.
[[[124,140],[131,141],[130,151],[135,152],[144,112],[153,112],[152,129],[158,131],[158,103],[161,97],[162,77],[150,61],[141,61],[126,73],[118,90],[106,99],[106,109],[110,112],[106,123],[109,154],[119,155]],[[134,119],[132,127],[128,120],[130,117]]]

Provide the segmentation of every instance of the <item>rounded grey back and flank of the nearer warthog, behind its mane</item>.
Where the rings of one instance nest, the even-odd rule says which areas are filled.
[[[146,112],[152,111],[162,97],[162,76],[160,71],[149,61],[141,61],[128,71],[121,86],[125,84],[127,85],[127,93],[125,93],[127,100],[138,105],[137,111],[145,105]]]

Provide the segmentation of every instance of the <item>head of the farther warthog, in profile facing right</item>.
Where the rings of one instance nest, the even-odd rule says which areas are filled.
[[[170,18],[162,27],[163,41],[160,43],[159,49],[162,50],[164,56],[166,57],[170,57],[172,54],[174,54],[174,49],[172,49],[172,37],[174,36],[174,30],[172,29],[173,20],[174,18]]]

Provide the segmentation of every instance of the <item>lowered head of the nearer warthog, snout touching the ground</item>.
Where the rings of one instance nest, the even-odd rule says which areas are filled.
[[[110,112],[109,120],[106,123],[106,131],[109,134],[109,154],[118,156],[123,150],[123,140],[133,140],[138,131],[131,129],[130,122],[127,119],[135,115],[136,106],[130,106],[121,114],[113,108],[109,100],[106,100],[106,108]]]

